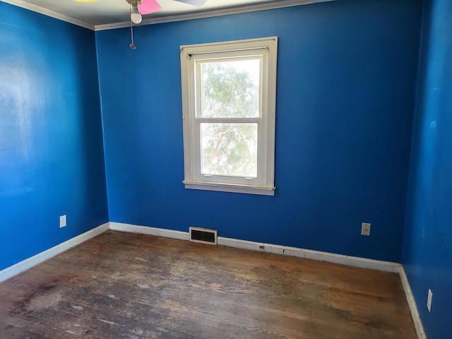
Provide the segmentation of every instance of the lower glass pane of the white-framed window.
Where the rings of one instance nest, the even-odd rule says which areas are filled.
[[[257,124],[201,123],[201,174],[257,177]]]

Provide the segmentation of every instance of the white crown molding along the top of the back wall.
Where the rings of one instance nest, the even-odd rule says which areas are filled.
[[[140,25],[153,25],[156,23],[172,23],[174,21],[184,21],[184,20],[192,20],[192,19],[201,19],[201,18],[212,18],[215,16],[228,16],[231,14],[239,14],[239,13],[247,13],[247,12],[255,12],[255,11],[265,11],[267,9],[275,9],[275,8],[283,8],[283,7],[292,7],[292,6],[300,6],[307,4],[316,4],[319,2],[330,2],[336,0],[280,0],[280,1],[271,1],[267,4],[254,4],[254,5],[246,5],[239,6],[234,8],[222,8],[215,9],[211,11],[203,11],[198,13],[186,13],[186,14],[177,14],[174,16],[162,16],[160,18],[150,18],[144,19]],[[130,21],[125,21],[122,23],[108,23],[105,25],[95,25],[95,30],[114,30],[116,28],[126,28],[130,27]]]

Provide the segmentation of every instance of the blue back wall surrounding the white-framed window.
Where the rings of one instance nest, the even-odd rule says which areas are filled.
[[[422,4],[340,0],[96,33],[110,221],[400,261]],[[184,189],[179,46],[277,35],[276,194]],[[371,222],[371,237],[360,235]]]

